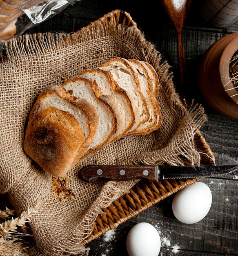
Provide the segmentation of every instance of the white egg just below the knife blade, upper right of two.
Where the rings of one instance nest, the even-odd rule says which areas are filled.
[[[207,215],[211,201],[209,186],[196,182],[176,193],[172,204],[173,214],[183,223],[196,223]]]

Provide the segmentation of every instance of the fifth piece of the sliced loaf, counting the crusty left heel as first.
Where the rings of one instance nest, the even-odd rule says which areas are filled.
[[[98,68],[109,71],[117,85],[127,93],[135,114],[135,124],[129,130],[129,133],[133,134],[137,127],[149,119],[149,111],[140,90],[137,70],[124,58],[114,58]]]

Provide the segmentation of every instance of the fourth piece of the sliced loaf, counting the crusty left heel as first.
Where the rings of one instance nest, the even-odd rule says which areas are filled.
[[[95,81],[100,87],[102,94],[105,97],[110,96],[108,97],[109,104],[116,113],[117,119],[117,132],[113,140],[123,137],[135,122],[133,109],[125,91],[116,87],[116,83],[113,81],[110,72],[105,70],[98,68],[85,70],[79,76],[90,79],[91,82]]]

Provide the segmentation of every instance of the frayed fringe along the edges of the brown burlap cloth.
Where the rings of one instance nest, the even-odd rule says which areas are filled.
[[[189,127],[191,128],[191,139],[186,141],[187,143],[185,144],[183,140],[184,138],[180,138],[180,142],[174,146],[176,150],[174,152],[170,152],[170,154],[173,155],[173,158],[171,159],[169,159],[167,155],[168,148],[162,148],[160,153],[158,153],[158,151],[148,152],[143,155],[138,155],[134,159],[130,159],[121,164],[161,164],[166,162],[170,165],[183,165],[180,157],[184,156],[189,160],[189,162],[191,162],[191,164],[199,165],[201,152],[198,152],[196,149],[194,136],[206,120],[204,110],[198,105],[191,106],[190,109],[187,110],[187,108],[182,104],[173,87],[173,74],[169,72],[170,66],[166,62],[160,65],[160,54],[151,43],[148,43],[145,40],[144,36],[138,29],[132,27],[125,29],[120,25],[108,25],[107,23],[98,22],[90,27],[81,29],[72,35],[50,33],[25,35],[18,39],[14,38],[13,40],[10,40],[9,43],[5,45],[6,56],[1,56],[1,58],[2,61],[11,58],[26,58],[28,54],[39,54],[48,51],[51,52],[54,49],[71,47],[76,43],[101,38],[102,36],[117,37],[122,34],[125,40],[129,40],[133,44],[138,45],[138,51],[143,52],[145,61],[153,65],[155,68],[159,76],[161,86],[164,88],[164,92],[169,95],[174,110],[179,113],[180,117],[184,120],[184,124],[186,124],[184,127],[182,127],[181,124],[181,127],[183,129],[187,129],[187,125],[189,124]],[[159,157],[158,154],[160,154]],[[174,156],[176,156],[176,159]],[[114,200],[129,191],[136,182],[138,182],[138,180],[129,182],[108,182],[82,220],[79,220],[80,227],[76,229],[74,236],[71,240],[66,241],[62,248],[59,248],[62,250],[61,252],[80,255],[87,253],[88,249],[80,246],[80,244],[82,244],[82,242],[91,235],[93,222],[96,220],[98,214],[102,213],[103,209],[108,207]],[[67,250],[66,248],[70,249]]]

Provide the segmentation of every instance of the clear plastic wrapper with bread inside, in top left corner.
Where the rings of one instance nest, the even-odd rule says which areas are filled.
[[[0,51],[6,40],[21,36],[27,29],[60,13],[79,0],[0,1]]]

